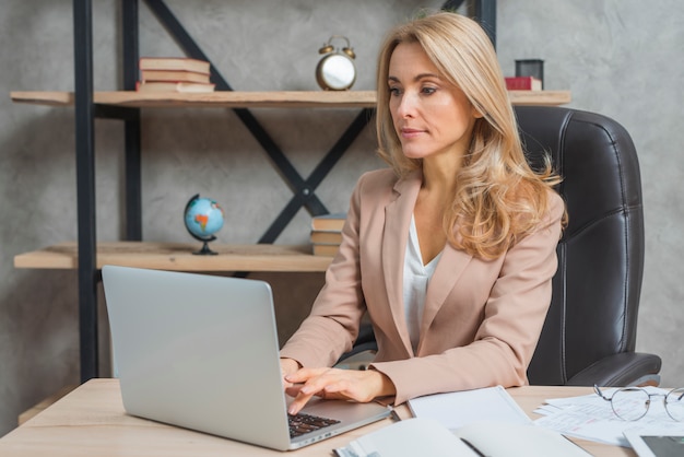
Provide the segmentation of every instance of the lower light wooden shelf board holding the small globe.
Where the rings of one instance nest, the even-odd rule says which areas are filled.
[[[331,257],[314,256],[310,246],[221,245],[216,256],[198,256],[199,243],[104,242],[97,244],[97,268],[104,265],[176,271],[326,271]],[[15,268],[76,269],[75,242],[14,257]]]

